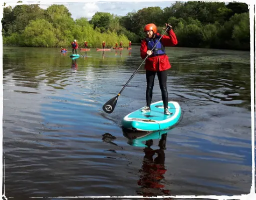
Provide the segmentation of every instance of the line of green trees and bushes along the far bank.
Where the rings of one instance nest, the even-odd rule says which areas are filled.
[[[86,40],[89,47],[101,47],[102,41],[107,47],[122,41],[126,47],[145,37],[145,24],[155,23],[162,33],[166,22],[173,26],[177,46],[250,49],[248,5],[240,2],[176,1],[163,9],[146,7],[125,16],[96,12],[91,20],[74,20],[65,5],[16,5],[4,8],[2,35],[4,45],[14,46],[70,47],[77,39],[80,46]]]

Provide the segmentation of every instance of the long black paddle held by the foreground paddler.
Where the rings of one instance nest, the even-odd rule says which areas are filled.
[[[163,32],[162,36],[165,34],[165,32],[169,29],[169,26],[166,27],[165,31]],[[153,50],[157,43],[161,40],[162,36],[159,38],[159,40],[155,43],[155,45],[153,46],[153,48],[151,50]],[[135,75],[135,73],[139,70],[139,68],[141,67],[141,65],[143,64],[143,62],[147,59],[149,55],[147,55],[145,57],[145,59],[142,61],[142,63],[139,65],[139,67],[134,71],[134,73],[132,74],[132,76],[129,78],[129,80],[126,82],[126,84],[123,86],[123,88],[119,91],[119,93],[111,98],[110,100],[108,100],[103,106],[102,109],[107,112],[107,113],[111,113],[114,111],[118,97],[120,96],[120,94],[122,93],[122,91],[124,90],[124,88],[127,86],[127,84],[130,82],[130,80],[133,78],[133,76]]]

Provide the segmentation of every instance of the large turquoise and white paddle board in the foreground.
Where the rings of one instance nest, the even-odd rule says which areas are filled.
[[[127,114],[123,118],[122,125],[124,128],[138,131],[162,130],[177,123],[181,115],[180,105],[175,101],[168,102],[168,109],[172,113],[170,115],[164,114],[162,100],[151,103],[150,112],[142,112],[142,108]]]

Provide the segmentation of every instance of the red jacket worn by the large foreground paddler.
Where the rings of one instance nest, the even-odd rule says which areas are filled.
[[[160,35],[159,33],[156,33]],[[161,38],[161,42],[164,46],[175,46],[178,43],[176,38],[176,34],[171,29],[168,32],[169,36],[163,35]],[[144,59],[147,56],[147,42],[145,39],[141,41],[140,46],[140,56]],[[148,56],[145,60],[145,69],[150,71],[163,71],[171,68],[171,64],[169,62],[167,55],[157,55],[157,56]]]

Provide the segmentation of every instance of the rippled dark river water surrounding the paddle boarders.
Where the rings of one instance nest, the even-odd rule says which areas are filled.
[[[76,62],[59,50],[4,47],[7,197],[249,193],[249,51],[168,47],[169,100],[182,117],[144,136],[121,128],[145,105],[144,65],[114,112],[102,110],[142,62],[139,46],[78,51]]]

